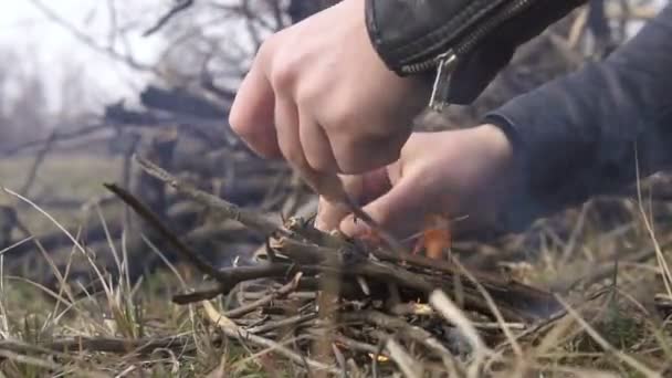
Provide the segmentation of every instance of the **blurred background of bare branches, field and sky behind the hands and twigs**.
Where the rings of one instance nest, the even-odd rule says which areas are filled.
[[[72,265],[72,276],[91,277],[88,261],[72,253],[63,229],[111,275],[115,249],[127,251],[133,276],[162,266],[164,258],[177,262],[103,182],[130,188],[183,240],[220,265],[242,263],[263,242],[232,222],[212,219],[208,209],[144,175],[133,162],[134,154],[272,217],[314,211],[314,196],[292,171],[282,161],[251,154],[232,135],[227,118],[237,85],[264,38],[333,2],[8,2],[0,13],[0,186],[11,190],[0,191],[6,269],[49,284],[53,273],[40,256],[48,254],[56,265]],[[516,94],[603,59],[664,3],[590,1],[521,49],[472,106],[423,114],[418,127],[473,125]],[[597,219],[600,234],[632,221],[627,203],[597,203],[546,220],[526,235],[498,241],[495,251],[504,256],[503,251],[514,251],[510,258],[516,260],[538,255],[544,244],[561,249],[565,258],[559,263],[568,264],[575,251],[564,245],[575,238],[577,219]],[[462,248],[482,252],[471,253],[481,262],[494,253],[493,245]]]

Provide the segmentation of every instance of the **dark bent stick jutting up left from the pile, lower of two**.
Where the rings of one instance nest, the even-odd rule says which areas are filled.
[[[159,218],[144,206],[138,199],[130,195],[125,189],[117,187],[114,183],[105,183],[105,187],[117,195],[126,204],[128,204],[139,217],[149,222],[161,237],[182,254],[182,256],[192,263],[199,271],[208,274],[212,279],[219,281],[223,290],[228,290],[240,282],[260,279],[260,277],[282,277],[286,275],[291,270],[292,265],[288,264],[272,264],[272,265],[259,265],[259,266],[242,266],[235,269],[218,270],[203,260],[199,254],[195,253],[187,246],[174,232],[171,232],[167,225],[165,225]]]

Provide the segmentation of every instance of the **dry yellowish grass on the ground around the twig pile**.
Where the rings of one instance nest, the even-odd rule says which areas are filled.
[[[50,162],[44,168],[35,196],[49,190],[56,193],[76,191],[81,196],[102,193],[98,183],[109,179],[108,166],[104,168],[107,162],[94,162],[93,168],[90,162],[81,162],[81,169],[73,169],[72,161]],[[15,188],[12,185],[15,185],[14,176],[20,176],[20,167],[15,161],[0,164],[2,186]],[[92,175],[92,171],[98,174]],[[61,180],[51,179],[55,177]],[[77,189],[70,191],[63,182]],[[3,200],[22,202],[13,195],[3,196]],[[660,304],[653,301],[655,293],[669,293],[672,282],[668,269],[669,252],[665,243],[659,242],[665,240],[669,227],[652,221],[650,209],[653,204],[645,200],[645,196],[641,198],[641,202],[636,198],[630,204],[623,204],[630,211],[630,218],[619,225],[621,232],[600,230],[591,206],[563,216],[567,223],[574,224],[569,237],[557,235],[554,228],[544,227],[547,224],[544,222],[536,228],[542,230],[538,231],[542,242],[528,251],[536,258],[529,259],[527,264],[511,266],[521,279],[539,286],[571,281],[573,276],[589,273],[612,253],[634,253],[652,245],[657,253],[642,263],[621,263],[616,284],[606,281],[602,286],[576,290],[564,298],[574,303],[568,305],[568,314],[528,337],[511,336],[508,343],[487,345],[463,314],[452,306],[452,302],[437,293],[432,304],[460,325],[472,347],[471,354],[453,361],[450,367],[453,376],[655,377],[671,374],[672,328]],[[31,227],[39,224],[40,228],[69,232],[66,230],[76,224],[72,222],[77,221],[76,217],[69,218],[36,207],[22,209],[31,213]],[[117,267],[123,271],[124,252],[115,252],[119,254]],[[71,253],[86,252],[73,242]],[[49,260],[49,254],[43,254],[42,259]],[[0,254],[0,265],[2,261]],[[120,280],[119,285],[108,284],[99,294],[75,297],[72,293],[78,287],[67,281],[67,269],[56,271],[54,267],[61,285],[57,291],[50,291],[0,267],[0,372],[3,376],[305,375],[305,370],[292,367],[274,354],[273,348],[260,350],[243,339],[223,337],[219,328],[221,324],[216,318],[218,312],[223,312],[222,302],[212,301],[204,307],[170,303],[171,294],[188,284],[183,269],[167,265],[164,272],[140,283]],[[103,275],[95,273],[98,267],[93,260],[91,270]],[[577,305],[581,303],[578,298],[598,291],[602,295],[597,300]],[[172,338],[171,343],[167,343],[167,338]],[[150,350],[143,348],[149,342],[165,345],[154,345]],[[59,353],[49,356],[36,347],[51,347]],[[412,369],[405,371],[414,374]]]

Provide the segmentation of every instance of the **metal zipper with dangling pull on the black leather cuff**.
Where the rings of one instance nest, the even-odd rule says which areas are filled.
[[[534,0],[515,1],[507,6],[503,11],[496,13],[493,18],[486,20],[447,52],[419,63],[405,65],[401,67],[401,72],[406,74],[417,74],[437,69],[429,107],[433,111],[442,112],[450,105],[448,102],[450,94],[450,77],[458,65],[459,57],[469,53],[485,35],[502,22],[507,21],[525,10],[533,1]]]

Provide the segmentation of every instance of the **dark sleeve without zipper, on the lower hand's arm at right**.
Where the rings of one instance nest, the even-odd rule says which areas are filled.
[[[487,115],[515,143],[524,180],[503,222],[535,218],[672,168],[672,6],[601,63]]]

